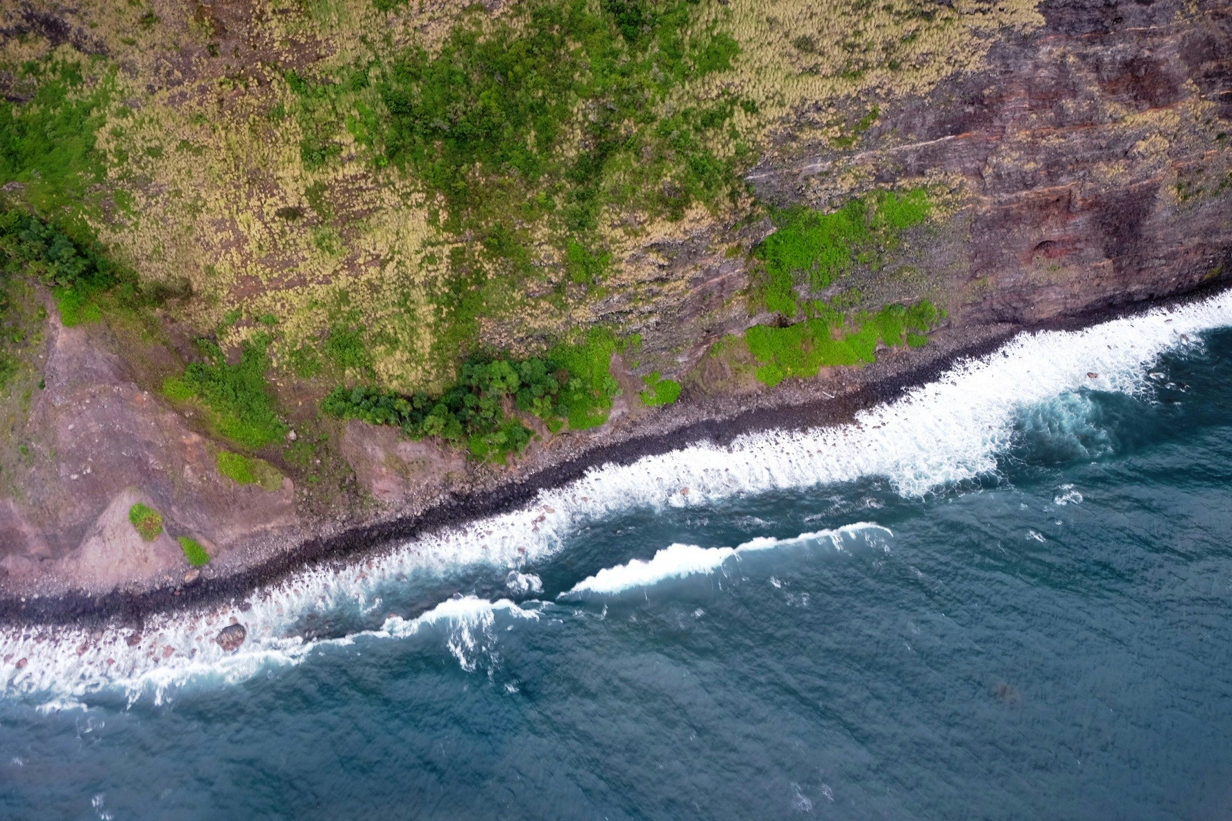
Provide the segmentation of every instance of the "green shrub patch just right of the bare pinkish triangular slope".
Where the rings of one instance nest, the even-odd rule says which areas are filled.
[[[249,448],[280,441],[287,426],[278,419],[265,380],[270,368],[270,337],[257,334],[240,347],[237,364],[228,364],[218,343],[197,340],[206,362],[193,362],[182,377],[163,383],[163,393],[177,401],[198,399],[209,409],[214,430]]]

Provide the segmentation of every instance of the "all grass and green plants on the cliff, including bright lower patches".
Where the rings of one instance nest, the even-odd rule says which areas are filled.
[[[448,431],[478,455],[529,436],[500,410],[515,396],[549,427],[606,417],[618,338],[687,281],[664,286],[648,249],[699,230],[721,247],[722,225],[764,213],[740,175],[772,144],[854,144],[877,119],[867,100],[925,92],[976,66],[992,32],[1039,20],[1027,0],[978,15],[918,0],[531,0],[493,14],[95,0],[55,14],[67,43],[28,32],[0,46],[17,101],[0,103],[0,177],[17,183],[11,207],[79,256],[107,249],[95,290],[127,288],[120,302],[207,337],[205,361],[165,393],[205,404],[214,432],[249,449],[287,432],[267,379],[315,396],[368,385],[335,409],[365,419],[424,395],[445,404],[441,430],[420,430],[419,411],[397,423]],[[928,215],[919,190],[776,217],[749,297],[804,319],[750,335],[764,382],[816,373],[830,337],[851,337],[853,362],[869,358],[866,337],[917,338],[890,327],[906,309],[850,313],[818,295]],[[62,294],[65,318],[97,316],[90,282]],[[578,331],[605,320],[601,345]],[[563,375],[522,407],[516,389],[466,382],[463,363],[493,361]],[[647,404],[678,395],[647,377]]]

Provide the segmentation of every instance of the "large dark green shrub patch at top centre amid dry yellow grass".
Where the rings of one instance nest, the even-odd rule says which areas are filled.
[[[537,0],[513,25],[472,15],[437,55],[411,48],[383,79],[384,154],[444,197],[453,230],[513,230],[500,218],[559,209],[558,226],[579,233],[610,202],[680,214],[713,201],[731,169],[703,143],[734,103],[655,114],[674,86],[739,50],[726,34],[690,39],[691,11],[687,0]]]

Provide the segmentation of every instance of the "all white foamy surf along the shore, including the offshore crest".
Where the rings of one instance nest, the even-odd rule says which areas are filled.
[[[1200,345],[1198,335],[1232,325],[1232,292],[1180,308],[1152,310],[1083,331],[1016,337],[1002,350],[956,364],[936,382],[902,399],[862,411],[856,421],[803,432],[763,431],[729,447],[696,444],[633,464],[605,465],[582,479],[538,494],[526,507],[466,527],[425,535],[377,559],[342,570],[304,570],[239,607],[149,619],[140,640],[129,631],[91,635],[70,628],[4,628],[0,693],[44,709],[81,707],[91,698],[148,698],[161,703],[177,688],[216,687],[259,672],[301,663],[330,645],[440,634],[464,668],[494,640],[494,631],[529,623],[556,603],[526,599],[542,592],[530,570],[556,554],[563,539],[604,516],[638,507],[712,505],[738,495],[887,478],[904,497],[987,475],[1013,446],[1023,409],[1088,388],[1145,395],[1158,357]],[[1080,494],[1058,490],[1057,505]],[[870,522],[800,540],[841,548]],[[611,596],[667,579],[712,574],[750,551],[781,545],[758,539],[738,547],[671,544],[652,559],[601,570],[563,598]],[[381,614],[383,596],[399,585],[447,577],[466,567],[505,575],[508,598],[450,598],[414,619],[391,617],[376,630],[344,638],[304,639],[292,628],[314,614],[340,609]],[[248,639],[228,655],[218,630],[243,623]]]

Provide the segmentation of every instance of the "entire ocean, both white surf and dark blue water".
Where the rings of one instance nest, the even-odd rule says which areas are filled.
[[[0,819],[1226,819],[1230,628],[1223,294],[139,635],[0,628]]]

